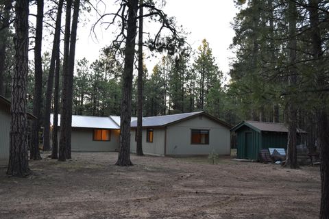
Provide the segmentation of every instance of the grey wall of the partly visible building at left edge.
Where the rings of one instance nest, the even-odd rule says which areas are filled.
[[[0,107],[0,166],[8,165],[10,114]]]

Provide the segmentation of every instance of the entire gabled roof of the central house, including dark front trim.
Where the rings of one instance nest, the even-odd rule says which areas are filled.
[[[214,116],[210,116],[209,114],[206,114],[203,111],[189,112],[189,113],[184,113],[184,114],[172,114],[172,115],[167,115],[167,116],[144,117],[142,124],[143,124],[143,127],[164,127],[167,125],[173,125],[174,123],[179,123],[182,120],[193,118],[193,117],[199,116],[199,115],[204,115],[212,120],[215,120],[217,123],[221,123],[221,125],[224,125],[224,126],[228,127],[229,129],[231,128],[231,126],[228,123],[225,123],[222,120],[215,118]],[[132,121],[131,126],[137,127],[137,120]]]

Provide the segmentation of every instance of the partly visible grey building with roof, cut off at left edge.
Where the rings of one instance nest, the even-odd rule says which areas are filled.
[[[10,148],[10,101],[0,95],[0,166],[8,164]],[[27,119],[36,118],[27,114]]]

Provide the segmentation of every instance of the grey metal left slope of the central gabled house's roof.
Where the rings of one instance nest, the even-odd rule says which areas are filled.
[[[203,114],[204,112],[189,112],[185,114],[173,114],[167,116],[150,116],[143,118],[143,127],[159,127],[168,125],[170,123],[177,122],[178,120],[182,120],[184,118],[188,118],[191,116],[195,116],[197,114]],[[137,120],[132,121],[132,127],[137,127]]]

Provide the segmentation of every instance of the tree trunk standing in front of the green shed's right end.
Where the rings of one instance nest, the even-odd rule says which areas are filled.
[[[289,71],[289,86],[295,88],[297,86],[297,70],[295,67],[296,55],[297,55],[297,40],[296,40],[296,22],[297,22],[297,9],[296,4],[293,1],[289,1],[289,62],[291,69]],[[291,94],[288,97],[288,145],[287,145],[287,159],[285,166],[290,168],[297,168],[297,108],[295,107],[295,94]]]

